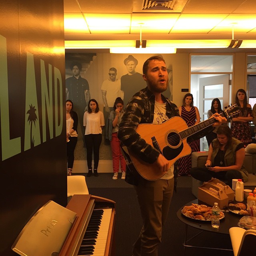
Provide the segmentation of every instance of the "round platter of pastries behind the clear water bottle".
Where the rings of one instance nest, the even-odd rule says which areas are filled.
[[[212,220],[212,207],[204,204],[191,204],[184,206],[181,210],[182,214],[187,218],[200,221]],[[220,220],[225,217],[223,212],[220,212]]]

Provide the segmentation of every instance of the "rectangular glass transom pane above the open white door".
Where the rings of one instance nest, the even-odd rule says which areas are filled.
[[[192,55],[191,72],[232,72],[232,55]]]

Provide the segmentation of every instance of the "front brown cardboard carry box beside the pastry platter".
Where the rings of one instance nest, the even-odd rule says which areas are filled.
[[[220,209],[228,206],[228,196],[224,190],[208,182],[204,182],[204,184],[198,188],[198,200],[210,206],[213,206],[216,202]]]

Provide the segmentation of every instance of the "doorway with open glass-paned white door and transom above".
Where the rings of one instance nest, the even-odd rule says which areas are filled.
[[[201,122],[207,119],[214,98],[220,100],[222,109],[231,103],[232,74],[233,54],[190,55],[190,92]],[[200,150],[208,151],[205,137],[200,139]]]

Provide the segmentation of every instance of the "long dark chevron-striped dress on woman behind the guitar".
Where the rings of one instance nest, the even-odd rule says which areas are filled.
[[[191,108],[190,111],[187,111],[186,108],[182,106],[181,117],[185,120],[188,127],[193,126],[196,122],[196,109]],[[194,140],[188,142],[192,152],[200,151],[200,140]],[[191,154],[184,156],[178,160],[179,166],[179,175],[189,175],[189,170],[191,169]]]

